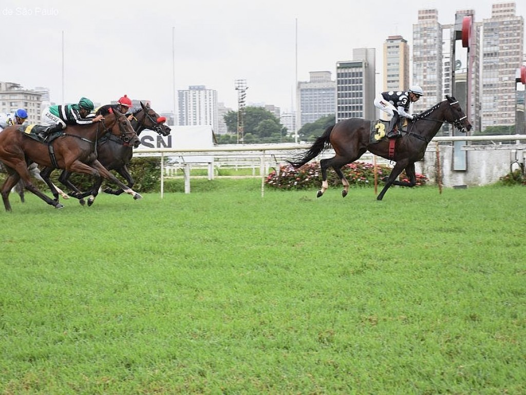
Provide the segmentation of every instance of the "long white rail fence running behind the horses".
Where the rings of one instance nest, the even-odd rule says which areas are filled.
[[[493,150],[509,150],[508,158],[510,161],[505,163],[510,166],[510,163],[518,163],[524,166],[526,157],[526,144],[520,144],[521,141],[526,141],[526,135],[499,135],[499,136],[440,136],[434,137],[432,142],[428,145],[426,155],[423,162],[426,162],[426,157],[433,157],[432,153],[437,150],[443,151],[444,147],[451,147],[450,145],[439,145],[443,142],[454,141],[486,141],[490,145],[464,145],[463,150],[466,151],[493,151]],[[514,141],[515,144],[498,144],[502,141]],[[208,170],[208,179],[214,179],[214,167],[220,169],[221,167],[229,169],[249,168],[252,169],[252,176],[261,178],[261,196],[265,193],[265,179],[274,168],[279,172],[280,165],[285,163],[286,159],[290,159],[298,153],[298,151],[306,151],[310,144],[242,144],[242,145],[220,145],[210,149],[175,149],[175,148],[150,148],[134,150],[135,156],[160,156],[160,194],[164,195],[164,181],[165,177],[177,174],[177,171],[182,171],[185,183],[185,193],[190,193],[190,170],[192,168],[204,167]],[[323,157],[331,157],[334,151],[328,150],[316,158],[317,161]],[[441,154],[442,155],[442,154]],[[197,161],[192,158],[196,157]],[[208,162],[201,162],[203,157],[207,157]],[[370,152],[366,152],[359,161],[372,163],[387,164],[388,160],[381,157],[376,157]],[[502,162],[502,157],[498,159]],[[432,161],[427,159],[428,162]],[[447,158],[446,158],[447,162]],[[443,167],[443,166],[442,166]],[[259,175],[256,175],[259,168]],[[426,169],[429,171],[428,169]],[[446,172],[448,169],[444,169]],[[418,171],[418,169],[417,169]],[[491,181],[491,180],[490,180]],[[448,186],[448,185],[446,185]]]

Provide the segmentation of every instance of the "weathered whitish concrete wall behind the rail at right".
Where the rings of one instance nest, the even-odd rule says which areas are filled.
[[[429,183],[437,183],[437,146],[429,144],[423,161],[416,163],[417,173],[425,174]],[[442,185],[452,187],[455,185],[487,185],[499,181],[499,178],[508,174],[511,164],[518,159],[524,163],[526,155],[525,144],[502,145],[469,145],[467,150],[467,170],[454,171],[453,146],[439,145],[440,174]],[[519,166],[513,165],[513,170]]]

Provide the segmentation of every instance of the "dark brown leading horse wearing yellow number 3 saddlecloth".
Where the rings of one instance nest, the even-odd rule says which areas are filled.
[[[386,185],[377,197],[378,200],[382,200],[383,195],[386,194],[391,185],[416,185],[414,163],[422,159],[427,145],[444,122],[451,123],[464,133],[471,130],[471,123],[462,111],[459,102],[449,95],[446,95],[446,98],[447,100],[419,114],[416,121],[408,121],[406,134],[396,141],[395,154],[392,158],[396,162],[395,167],[393,167],[387,177]],[[330,159],[320,160],[322,184],[321,189],[318,191],[318,197],[327,190],[328,167],[332,167],[340,177],[343,183],[342,195],[345,197],[349,191],[349,182],[341,172],[342,166],[358,160],[366,151],[390,159],[389,141],[381,140],[377,143],[371,143],[370,133],[371,121],[363,118],[349,118],[348,120],[340,121],[336,125],[329,126],[307,152],[287,162],[297,169],[314,159],[321,152],[329,149],[332,145],[336,155]],[[404,169],[409,182],[397,180],[397,177]]]

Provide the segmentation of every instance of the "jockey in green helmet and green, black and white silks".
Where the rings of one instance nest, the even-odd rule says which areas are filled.
[[[89,125],[94,122],[103,121],[102,115],[89,118],[88,114],[93,110],[93,102],[86,97],[80,98],[78,104],[54,105],[44,108],[41,122],[50,125],[46,130],[39,133],[39,137],[46,139],[52,132],[66,129],[66,125]]]

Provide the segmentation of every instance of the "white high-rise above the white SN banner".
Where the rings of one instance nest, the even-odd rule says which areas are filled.
[[[177,93],[179,125],[210,125],[214,132],[219,129],[217,91],[204,85],[191,85]]]

